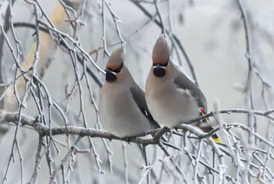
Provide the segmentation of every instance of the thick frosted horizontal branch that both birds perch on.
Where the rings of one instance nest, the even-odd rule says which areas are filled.
[[[261,111],[248,111],[246,109],[224,109],[221,111],[217,112],[211,112],[207,115],[203,115],[201,117],[198,117],[196,119],[192,119],[189,122],[179,124],[175,128],[180,128],[184,130],[190,131],[190,133],[193,133],[196,135],[199,139],[203,138],[208,138],[211,137],[214,133],[216,133],[218,130],[221,130],[222,127],[215,128],[214,130],[210,131],[209,133],[203,133],[199,128],[195,128],[195,126],[189,125],[192,122],[197,122],[200,121],[201,119],[205,119],[206,117],[210,117],[216,114],[223,114],[223,113],[251,113],[253,115],[261,115],[264,117],[267,117],[271,120],[274,121],[274,117],[271,115],[267,115],[268,111],[266,112],[261,112]],[[22,126],[31,126],[33,127],[39,135],[41,136],[49,136],[50,130],[49,127],[45,126],[44,124],[41,124],[38,122],[39,118],[34,119],[33,117],[29,117],[27,115],[21,115],[21,124]],[[18,122],[18,114],[16,113],[8,113],[5,111],[0,111],[0,124],[4,124],[6,122],[14,122],[17,124]],[[271,146],[271,148],[274,148],[274,144],[267,141],[264,139],[264,137],[261,137],[257,133],[253,133],[247,126],[243,124],[227,124],[227,128],[241,128],[242,130],[247,131],[248,133],[251,133],[253,136],[255,136],[257,139],[260,141],[263,141],[267,145]],[[134,143],[141,143],[141,144],[158,144],[160,142],[160,139],[162,135],[167,133],[169,131],[169,128],[158,128],[155,130],[149,130],[145,133],[142,133],[136,137],[131,137],[130,141]],[[100,137],[100,138],[105,138],[105,139],[116,139],[120,141],[128,141],[128,137],[121,138],[121,137],[116,137],[104,130],[97,130],[95,128],[83,128],[83,127],[78,127],[78,126],[56,126],[51,128],[51,134],[52,135],[66,135],[66,133],[71,134],[71,135],[81,135],[82,137],[88,136],[88,137]],[[151,133],[156,133],[153,138],[145,138],[143,136],[149,135]]]

